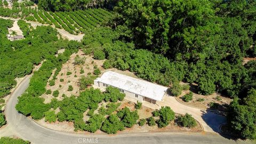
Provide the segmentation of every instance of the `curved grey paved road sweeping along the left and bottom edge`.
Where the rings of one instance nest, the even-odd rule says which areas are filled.
[[[27,76],[14,90],[7,101],[5,115],[8,124],[0,129],[0,137],[17,136],[35,144],[58,143],[253,143],[251,141],[233,141],[212,133],[132,133],[132,134],[74,134],[46,129],[30,118],[19,114],[15,109],[18,97],[27,89],[29,79]]]

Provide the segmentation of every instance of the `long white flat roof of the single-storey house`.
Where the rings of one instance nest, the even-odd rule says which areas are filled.
[[[113,71],[107,71],[100,78],[95,79],[95,81],[105,83],[157,101],[161,101],[163,99],[164,94],[168,89],[165,86],[118,74]]]

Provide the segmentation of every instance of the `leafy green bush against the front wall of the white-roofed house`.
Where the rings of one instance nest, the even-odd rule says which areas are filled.
[[[108,86],[105,91],[105,101],[117,102],[122,101],[125,97],[124,93],[121,93],[116,87]]]

